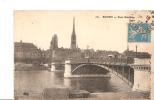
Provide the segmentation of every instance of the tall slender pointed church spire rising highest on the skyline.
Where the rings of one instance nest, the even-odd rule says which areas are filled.
[[[71,49],[76,49],[75,18],[73,18],[73,31],[71,36]]]

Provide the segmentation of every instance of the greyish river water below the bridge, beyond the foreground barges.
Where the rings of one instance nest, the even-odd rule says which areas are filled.
[[[111,78],[64,78],[64,72],[15,71],[15,95],[23,92],[42,92],[44,88],[69,87],[89,92],[123,92],[131,88],[111,74]]]

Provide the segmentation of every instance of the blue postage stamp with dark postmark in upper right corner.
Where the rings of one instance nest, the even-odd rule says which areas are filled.
[[[151,42],[151,25],[149,23],[129,23],[128,42]]]

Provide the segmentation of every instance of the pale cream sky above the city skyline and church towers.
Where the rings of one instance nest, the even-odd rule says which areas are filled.
[[[34,43],[41,49],[49,49],[53,34],[58,36],[59,47],[70,48],[73,18],[77,45],[95,50],[123,52],[129,45],[135,50],[148,51],[148,43],[127,43],[127,24],[130,18],[142,16],[146,11],[14,11],[14,41]],[[104,17],[103,17],[104,16]],[[146,48],[145,48],[146,47]],[[150,49],[151,50],[151,49]]]

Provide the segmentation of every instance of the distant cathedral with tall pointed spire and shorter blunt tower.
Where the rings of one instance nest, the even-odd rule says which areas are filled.
[[[73,30],[71,35],[70,48],[59,48],[58,37],[56,34],[53,35],[50,43],[50,55],[52,61],[63,61],[66,58],[81,58],[81,50],[77,47],[76,33],[75,33],[75,18],[73,18]]]

